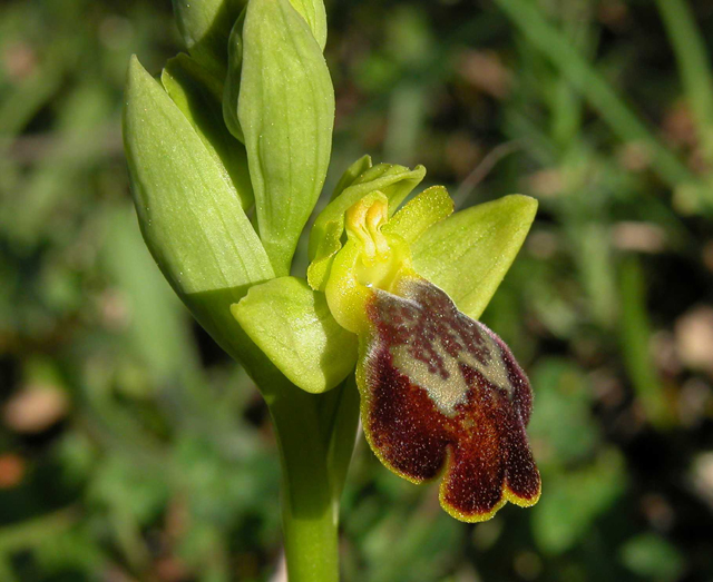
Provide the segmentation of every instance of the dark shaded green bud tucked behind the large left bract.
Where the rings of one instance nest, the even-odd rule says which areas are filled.
[[[168,96],[194,127],[203,145],[225,170],[243,208],[253,205],[253,187],[247,169],[247,152],[223,122],[223,83],[187,55],[170,59],[160,76]]]

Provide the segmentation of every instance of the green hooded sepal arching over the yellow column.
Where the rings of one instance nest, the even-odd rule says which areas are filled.
[[[391,164],[368,167],[370,164],[371,159],[362,158],[346,170],[345,175],[349,175],[359,168],[358,165],[367,167],[320,213],[314,221],[310,234],[311,264],[307,268],[307,282],[313,289],[324,290],[332,260],[342,248],[344,213],[364,196],[379,191],[388,198],[389,215],[393,215],[426,176],[423,166],[417,166],[411,170],[404,166]],[[349,177],[342,178],[340,184],[342,181],[345,184],[348,180]]]

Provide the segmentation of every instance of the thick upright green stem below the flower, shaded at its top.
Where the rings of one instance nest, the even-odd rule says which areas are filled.
[[[358,399],[343,396],[349,389],[355,391],[345,384],[318,396],[284,381],[264,392],[280,445],[290,582],[339,580],[339,497],[359,412]]]

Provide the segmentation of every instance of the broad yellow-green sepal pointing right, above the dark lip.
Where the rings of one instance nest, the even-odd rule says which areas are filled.
[[[536,211],[537,200],[511,195],[456,213],[413,243],[416,270],[461,312],[478,318],[515,260]]]

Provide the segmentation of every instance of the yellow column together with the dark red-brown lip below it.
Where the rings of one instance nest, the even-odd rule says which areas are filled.
[[[442,204],[442,191],[431,190],[430,204]],[[411,204],[418,216],[426,199]],[[325,286],[334,319],[359,336],[367,440],[387,467],[413,483],[442,476],[441,505],[459,520],[488,520],[508,501],[534,505],[540,477],[525,433],[527,376],[495,333],[417,273],[399,234],[418,231],[410,213],[397,214],[388,228],[383,194],[351,206],[348,239]]]

